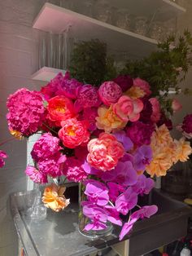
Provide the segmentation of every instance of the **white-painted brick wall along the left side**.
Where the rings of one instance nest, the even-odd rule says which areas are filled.
[[[38,32],[33,19],[45,0],[0,0],[0,142],[7,131],[7,96],[20,87],[37,89],[30,80],[37,70]],[[26,189],[24,169],[26,141],[12,141],[1,147],[9,157],[0,170],[0,255],[16,256],[16,234],[11,220],[8,196]]]

